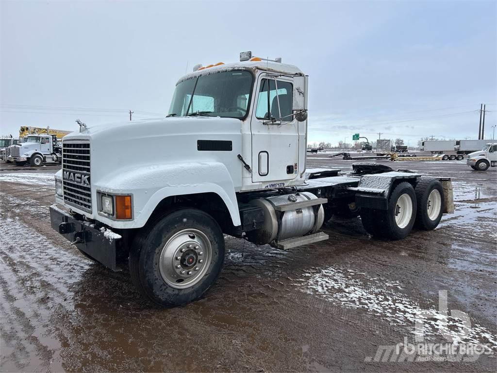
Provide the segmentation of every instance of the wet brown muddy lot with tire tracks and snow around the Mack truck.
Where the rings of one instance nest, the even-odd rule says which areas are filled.
[[[0,371],[494,372],[495,355],[399,362],[381,346],[414,343],[416,313],[433,310],[424,342],[497,351],[497,170],[388,164],[452,177],[456,213],[397,242],[372,240],[360,218],[333,218],[330,240],[290,251],[228,238],[216,285],[174,309],[142,300],[127,272],[94,264],[52,230],[56,167],[1,165]],[[443,290],[453,317],[435,312]]]

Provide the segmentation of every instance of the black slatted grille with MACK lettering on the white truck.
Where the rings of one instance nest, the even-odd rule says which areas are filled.
[[[80,182],[87,180],[87,184]],[[91,212],[90,143],[82,140],[62,142],[62,187],[64,202]]]

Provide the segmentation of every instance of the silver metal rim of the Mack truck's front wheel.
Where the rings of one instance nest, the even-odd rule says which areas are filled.
[[[159,270],[167,285],[185,289],[202,280],[212,258],[212,245],[198,229],[183,229],[164,245]]]

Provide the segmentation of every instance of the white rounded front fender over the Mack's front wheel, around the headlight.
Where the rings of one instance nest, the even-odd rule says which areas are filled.
[[[108,178],[95,182],[94,186],[94,198],[97,191],[133,195],[133,220],[116,221],[100,216],[94,211],[98,220],[113,228],[143,227],[156,206],[166,197],[209,192],[221,197],[230,212],[233,224],[241,224],[233,180],[226,166],[219,162],[140,167],[113,173]]]

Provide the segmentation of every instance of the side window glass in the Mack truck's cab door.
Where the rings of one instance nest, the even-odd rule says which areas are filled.
[[[278,90],[276,90],[276,86],[278,87]],[[276,93],[278,94],[276,95]],[[275,83],[274,79],[263,79],[257,97],[255,117],[257,119],[266,120],[275,118],[276,120],[291,122],[293,120],[293,116],[291,116],[293,112],[292,95],[293,85],[291,83],[278,80]]]

